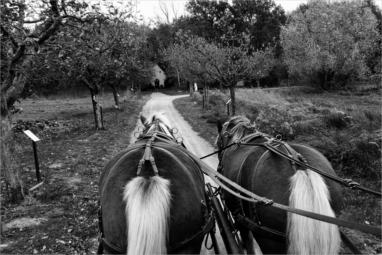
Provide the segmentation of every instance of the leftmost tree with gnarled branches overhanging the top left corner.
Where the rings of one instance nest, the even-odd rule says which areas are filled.
[[[76,1],[1,1],[1,167],[11,202],[24,198],[11,108],[25,90],[30,70],[42,49],[71,20],[89,21],[88,4]],[[90,9],[91,10],[91,9]],[[94,17],[91,17],[92,20]]]

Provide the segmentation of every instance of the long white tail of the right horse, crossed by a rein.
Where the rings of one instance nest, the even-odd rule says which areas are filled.
[[[324,179],[310,169],[290,178],[289,206],[331,217],[329,190]],[[288,212],[288,254],[337,254],[341,244],[338,226]]]

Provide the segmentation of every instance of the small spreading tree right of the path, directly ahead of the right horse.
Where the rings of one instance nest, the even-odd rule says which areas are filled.
[[[255,50],[251,46],[249,34],[233,34],[228,32],[222,36],[222,43],[209,43],[205,39],[178,33],[183,48],[188,52],[182,56],[190,65],[196,62],[215,81],[230,89],[232,114],[236,112],[235,85],[240,80],[259,78],[272,67],[275,46],[267,46],[264,50]]]

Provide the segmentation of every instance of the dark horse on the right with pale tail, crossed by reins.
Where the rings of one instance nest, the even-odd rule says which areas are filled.
[[[233,117],[223,126],[218,121],[217,127],[219,149],[233,142],[270,142],[290,157],[335,175],[329,161],[316,149],[273,139],[259,132],[256,125],[245,117]],[[342,192],[338,183],[300,167],[264,146],[233,145],[220,153],[219,159],[218,170],[225,177],[258,196],[305,211],[340,216]],[[254,251],[253,237],[264,254],[335,254],[339,251],[340,233],[334,224],[271,206],[238,201],[224,190],[222,196],[233,216],[241,214],[256,223],[256,231],[249,231],[243,224],[238,224],[248,254]]]

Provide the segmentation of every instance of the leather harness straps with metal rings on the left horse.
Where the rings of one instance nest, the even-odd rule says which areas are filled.
[[[161,123],[161,124],[163,124],[163,123]],[[139,176],[141,174],[142,165],[147,162],[147,163],[151,164],[152,170],[154,171],[155,175],[159,176],[159,170],[155,164],[155,159],[151,153],[151,149],[152,149],[153,145],[155,145],[156,149],[160,149],[160,150],[165,151],[177,163],[179,163],[179,165],[181,165],[185,169],[187,169],[186,166],[181,162],[181,160],[178,159],[178,157],[176,157],[176,155],[172,154],[168,149],[166,149],[166,147],[168,147],[168,146],[170,146],[172,148],[177,147],[177,148],[182,148],[182,149],[184,148],[185,149],[186,147],[183,145],[183,142],[178,142],[175,139],[175,137],[171,137],[168,134],[166,134],[165,132],[159,131],[158,121],[150,123],[146,127],[146,129],[148,129],[152,125],[155,125],[153,131],[149,131],[145,134],[140,134],[137,137],[136,142],[149,138],[146,145],[139,145],[139,146],[133,145],[130,147],[130,149],[128,148],[126,153],[119,160],[117,160],[114,163],[114,165],[110,168],[108,175],[112,172],[112,170],[116,167],[116,165],[120,162],[121,159],[123,159],[128,154],[135,151],[136,149],[140,149],[140,148],[144,147],[145,148],[144,154],[142,156],[142,159],[139,160],[136,175]],[[171,129],[169,127],[167,127],[167,128],[171,131]],[[165,142],[165,144],[167,144],[167,146],[163,146],[163,144],[158,144],[158,143],[154,144],[155,139],[160,140],[162,142]],[[186,150],[186,151],[188,152],[188,150]],[[190,154],[190,152],[186,153],[184,150],[181,150],[181,152],[185,153],[186,155]],[[199,167],[199,170],[200,170],[199,172],[201,174],[202,180],[204,180],[203,170],[201,169],[199,164],[196,163],[196,165]],[[108,177],[106,177],[105,180],[107,178]],[[100,191],[100,194],[102,194],[102,193],[103,193],[103,190]],[[200,197],[205,196],[207,198],[206,193],[199,194],[199,196]],[[208,198],[206,200],[208,200]],[[206,201],[206,202],[208,202],[208,201]],[[193,237],[191,237],[187,240],[184,240],[183,242],[180,242],[179,244],[172,245],[171,247],[168,247],[168,253],[169,254],[179,252],[179,251],[185,249],[186,247],[188,247],[189,245],[191,245],[191,244],[197,242],[198,240],[204,238],[204,236],[208,232],[210,232],[210,230],[215,226],[214,213],[211,209],[209,209],[209,206],[207,206],[206,202],[201,199],[201,210],[202,210],[202,217],[203,217],[203,224],[201,226],[201,230],[196,235],[194,235]],[[97,250],[97,254],[102,254],[104,249],[106,249],[108,252],[110,252],[112,254],[126,254],[127,247],[118,247],[117,245],[114,245],[112,242],[108,241],[105,238],[103,226],[102,226],[102,210],[101,209],[102,209],[102,202],[100,199],[99,200],[99,209],[98,209],[98,226],[99,226],[99,242],[100,242],[100,244],[99,244],[99,248]]]

